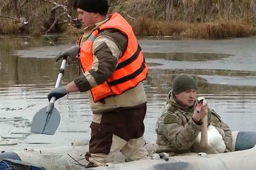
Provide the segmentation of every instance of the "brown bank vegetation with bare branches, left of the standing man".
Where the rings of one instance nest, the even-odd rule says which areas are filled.
[[[0,0],[0,33],[60,33],[62,26],[76,18],[76,0]],[[15,30],[5,29],[4,22],[12,20]]]

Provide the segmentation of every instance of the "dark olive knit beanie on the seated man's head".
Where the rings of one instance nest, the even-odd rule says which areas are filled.
[[[188,75],[179,75],[174,78],[172,89],[176,95],[184,92],[185,90],[197,89],[196,81]]]

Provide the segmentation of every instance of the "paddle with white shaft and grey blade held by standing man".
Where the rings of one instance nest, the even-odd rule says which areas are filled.
[[[66,59],[63,59],[55,87],[59,87],[65,67]],[[54,107],[55,100],[56,98],[52,97],[48,106],[43,107],[34,115],[30,129],[31,132],[47,135],[55,134],[55,131],[60,124],[60,112]]]

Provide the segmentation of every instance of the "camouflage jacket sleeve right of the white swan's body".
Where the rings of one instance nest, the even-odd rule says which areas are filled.
[[[232,131],[230,130],[229,126],[227,126],[224,121],[221,120],[221,117],[219,117],[218,114],[216,114],[215,110],[210,109],[210,120],[209,122],[217,127],[216,129],[222,129],[224,131],[224,143],[226,145],[226,151],[225,152],[232,152],[233,151],[233,138],[232,138]],[[219,131],[218,129],[218,131]]]

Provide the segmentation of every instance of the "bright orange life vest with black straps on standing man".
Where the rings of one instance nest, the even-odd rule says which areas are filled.
[[[128,44],[126,52],[119,57],[118,66],[113,74],[102,84],[91,89],[94,102],[104,99],[110,95],[120,95],[129,90],[146,78],[148,66],[144,60],[141,48],[138,45],[130,24],[118,13],[110,15],[110,19],[102,24],[99,29],[94,30],[82,46],[79,39],[79,60],[84,72],[91,69],[93,64],[93,41],[98,33],[104,29],[117,29],[127,35]]]

